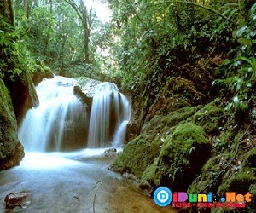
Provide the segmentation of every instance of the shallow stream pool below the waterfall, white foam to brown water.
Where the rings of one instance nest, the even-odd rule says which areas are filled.
[[[112,159],[103,149],[75,153],[26,153],[10,170],[0,172],[0,212],[12,192],[32,193],[24,212],[173,212],[161,208],[137,185],[109,171]],[[102,185],[96,191],[96,182]],[[96,199],[95,198],[96,195]]]

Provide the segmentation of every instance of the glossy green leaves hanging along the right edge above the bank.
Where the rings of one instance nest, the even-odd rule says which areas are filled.
[[[227,112],[247,111],[255,106],[256,79],[256,4],[249,10],[247,19],[240,21],[240,27],[234,32],[239,46],[230,51],[230,58],[224,60],[218,69],[222,79],[213,82],[220,84],[230,92]]]

